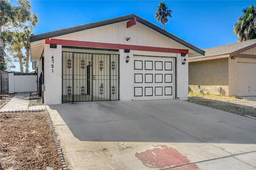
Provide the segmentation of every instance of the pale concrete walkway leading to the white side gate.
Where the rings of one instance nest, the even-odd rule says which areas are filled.
[[[29,93],[18,93],[0,111],[28,110]]]

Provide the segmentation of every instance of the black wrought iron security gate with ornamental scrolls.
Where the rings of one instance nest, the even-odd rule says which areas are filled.
[[[119,55],[62,52],[62,102],[119,100]]]

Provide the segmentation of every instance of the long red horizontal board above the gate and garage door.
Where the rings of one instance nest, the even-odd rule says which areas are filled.
[[[109,49],[132,49],[138,51],[155,51],[155,52],[166,52],[166,53],[186,53],[188,49],[174,49],[174,48],[162,48],[162,47],[148,47],[140,45],[124,45],[116,43],[99,43],[99,42],[82,42],[74,40],[58,40],[58,39],[45,39],[46,44],[58,44],[58,45],[69,45],[78,47],[97,47],[97,48],[109,48]]]

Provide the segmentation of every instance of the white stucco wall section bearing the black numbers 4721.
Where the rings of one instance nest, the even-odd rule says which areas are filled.
[[[54,56],[54,63],[52,63]],[[53,65],[53,68],[52,68]],[[53,72],[52,72],[53,69]],[[62,95],[62,47],[50,48],[50,44],[44,46],[44,84],[45,104],[60,104]]]

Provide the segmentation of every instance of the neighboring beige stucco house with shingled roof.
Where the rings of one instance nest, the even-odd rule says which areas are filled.
[[[189,90],[230,96],[256,95],[256,39],[204,49],[189,56]]]

